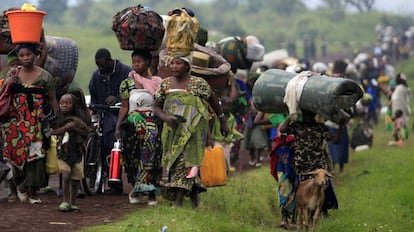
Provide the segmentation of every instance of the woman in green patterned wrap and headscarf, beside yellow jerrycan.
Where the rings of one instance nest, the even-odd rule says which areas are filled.
[[[202,78],[190,75],[191,57],[175,56],[171,63],[172,76],[163,79],[155,93],[155,114],[164,121],[161,135],[163,164],[169,181],[165,192],[181,207],[189,195],[193,208],[199,203],[198,194],[205,191],[198,175],[206,141],[210,140],[208,108],[220,120],[221,133],[227,136],[229,128],[218,99]]]

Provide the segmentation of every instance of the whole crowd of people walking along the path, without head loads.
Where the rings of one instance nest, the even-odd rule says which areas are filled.
[[[8,201],[42,203],[37,193],[48,186],[45,154],[53,135],[57,138],[63,183],[62,203],[57,208],[78,212],[76,198],[84,177],[85,141],[94,112],[88,110],[80,89],[56,96],[55,78],[36,63],[42,57],[37,44],[18,44],[13,52],[0,91],[10,88],[7,91],[12,95],[9,114],[2,118],[1,125],[2,158],[11,169],[6,177]],[[379,46],[362,60],[356,54],[352,60],[328,64],[297,59],[293,64],[280,60],[257,71],[232,68],[237,72],[230,72],[229,83],[236,85],[238,92],[232,98],[218,96],[205,79],[192,75],[190,54],[172,55],[169,75],[159,77],[151,71],[155,58],[149,51],[131,51],[131,65],[127,65],[114,59],[108,49],[100,48],[94,57],[97,69],[88,86],[91,104],[121,104],[119,110],[107,112],[104,118],[102,152],[110,154],[114,142],[122,141],[123,169],[132,189],[126,199],[131,204],[146,202],[154,206],[161,189],[161,196],[173,201],[175,207],[182,207],[187,196],[194,209],[199,206],[199,194],[206,191],[200,179],[206,146],[225,148],[227,172],[237,170],[240,150],[248,151],[249,165],[255,168],[271,160],[270,151],[275,152],[279,163],[271,167],[280,181],[281,227],[289,229],[289,218],[296,223],[292,203],[298,181],[311,178],[308,173],[319,168],[342,175],[350,147],[358,150],[358,146],[372,146],[372,134],[365,133],[371,136],[368,143],[356,146],[351,146],[351,136],[359,135],[360,124],[374,128],[384,106],[392,121],[390,145],[404,145],[411,92],[407,77],[395,72],[388,53]],[[392,56],[399,58],[402,54]],[[13,67],[13,62],[18,66]],[[305,109],[299,118],[260,112],[252,102],[252,88],[267,69],[349,78],[361,86],[365,95],[348,109],[352,119],[336,123]],[[108,187],[113,194],[124,191],[119,183],[109,183]],[[338,208],[331,181],[325,195],[322,212],[328,215],[328,209]]]

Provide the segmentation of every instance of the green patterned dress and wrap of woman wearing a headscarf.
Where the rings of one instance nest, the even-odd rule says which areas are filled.
[[[175,127],[164,123],[161,134],[162,163],[168,170],[169,182],[164,187],[194,187],[205,191],[200,177],[186,178],[189,168],[201,165],[208,135],[208,99],[211,89],[208,83],[198,77],[191,77],[187,89],[171,89],[170,78],[161,83],[155,93],[155,101],[163,103],[166,114],[185,118]]]

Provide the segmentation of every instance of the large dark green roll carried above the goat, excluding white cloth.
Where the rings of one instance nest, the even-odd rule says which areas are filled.
[[[289,112],[284,103],[285,91],[289,81],[296,75],[279,69],[265,71],[253,86],[255,108],[265,113]],[[301,94],[298,95],[298,106],[339,122],[346,113],[344,110],[352,108],[362,95],[361,87],[350,79],[315,74],[303,84]]]

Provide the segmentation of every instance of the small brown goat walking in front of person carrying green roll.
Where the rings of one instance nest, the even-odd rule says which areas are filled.
[[[315,231],[325,200],[324,191],[328,186],[328,178],[332,175],[325,169],[317,169],[304,175],[312,175],[313,178],[299,183],[296,192],[296,213],[300,215],[300,221],[306,230],[312,219],[312,231]]]

